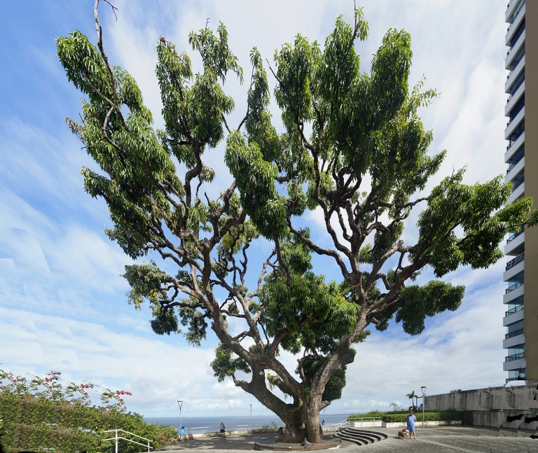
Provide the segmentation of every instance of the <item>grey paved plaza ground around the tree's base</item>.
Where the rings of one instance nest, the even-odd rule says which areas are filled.
[[[436,426],[417,429],[417,440],[398,439],[396,428],[371,428],[389,435],[387,440],[358,446],[342,442],[342,453],[538,453],[538,439],[523,431],[471,428],[466,426]],[[254,450],[255,442],[276,442],[276,433],[233,435],[226,438],[185,440],[166,448],[167,453],[198,452],[241,453]],[[323,451],[323,450],[318,450]]]

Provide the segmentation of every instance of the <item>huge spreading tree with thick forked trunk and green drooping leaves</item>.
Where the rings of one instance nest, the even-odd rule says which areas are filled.
[[[360,8],[351,25],[338,18],[323,45],[298,35],[282,46],[270,76],[253,48],[237,125],[228,124],[226,79],[244,76],[224,25],[189,35],[199,71],[161,38],[163,130],[132,76],[109,63],[95,11],[97,46],[73,32],[57,39],[57,52],[86,96],[81,121],[68,124],[101,169],[83,169],[85,190],[108,204],[106,235],[127,256],[149,258],[125,268],[130,302],[149,302],[159,334],[200,344],[210,327],[220,341],[216,377],[273,410],[287,425],[283,438],[319,440],[319,412],[340,397],[368,326],[385,330],[395,319],[417,335],[426,316],[457,309],[464,288],[441,277],[495,263],[506,225],[527,219],[530,199],[505,207],[511,188],[501,176],[469,186],[463,170],[425,193],[446,155],[429,152],[433,135],[418,115],[436,92],[409,86],[403,30],[390,29],[362,71]],[[207,152],[217,146],[233,180],[211,197]],[[414,210],[418,232],[406,243]],[[328,240],[312,239],[307,211],[322,215]],[[260,258],[251,245],[262,239],[272,250]],[[332,260],[340,278],[326,281],[313,256]],[[437,279],[416,284],[427,266]],[[297,356],[295,370],[280,361],[283,350]]]

